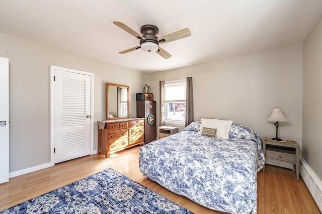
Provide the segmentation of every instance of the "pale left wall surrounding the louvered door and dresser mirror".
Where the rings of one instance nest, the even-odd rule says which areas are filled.
[[[136,117],[145,73],[2,33],[0,57],[10,63],[10,172],[50,162],[50,65],[94,73],[95,121],[106,119],[106,82],[130,86],[130,117]]]

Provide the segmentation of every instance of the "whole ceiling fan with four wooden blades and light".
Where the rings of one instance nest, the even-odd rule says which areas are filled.
[[[113,22],[113,24],[140,40],[139,46],[121,51],[119,52],[119,54],[126,54],[137,49],[142,49],[146,52],[156,52],[163,58],[169,59],[170,57],[172,57],[172,55],[160,48],[159,44],[169,43],[191,36],[190,30],[188,28],[185,28],[175,33],[158,38],[156,37],[156,35],[159,33],[159,29],[154,25],[143,25],[141,27],[141,36],[121,22]]]

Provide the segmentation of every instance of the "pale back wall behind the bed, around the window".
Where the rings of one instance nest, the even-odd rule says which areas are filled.
[[[261,137],[273,137],[275,126],[266,119],[274,108],[281,108],[290,122],[281,123],[279,137],[301,145],[301,44],[151,73],[149,85],[154,100],[159,100],[159,80],[189,76],[193,78],[195,120],[229,119],[250,126]]]

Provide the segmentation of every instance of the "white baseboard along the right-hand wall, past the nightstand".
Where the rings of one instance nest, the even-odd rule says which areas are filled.
[[[300,174],[315,203],[322,212],[322,180],[320,180],[307,162],[300,156]]]

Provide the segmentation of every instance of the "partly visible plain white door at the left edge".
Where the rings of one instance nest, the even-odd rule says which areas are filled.
[[[0,183],[9,181],[9,59],[0,57]]]

